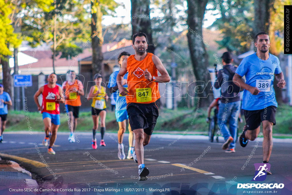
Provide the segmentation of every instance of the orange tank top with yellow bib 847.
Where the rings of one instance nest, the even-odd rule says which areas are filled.
[[[152,53],[147,53],[142,61],[137,61],[134,55],[128,57],[127,81],[129,93],[126,96],[127,103],[152,103],[160,98],[158,83],[148,81],[143,74],[147,68],[152,76],[157,77],[157,69],[152,61],[152,56]]]

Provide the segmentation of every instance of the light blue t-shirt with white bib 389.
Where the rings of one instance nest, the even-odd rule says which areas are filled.
[[[246,84],[258,87],[260,93],[253,95],[244,89],[242,109],[261,110],[268,106],[278,106],[274,91],[274,74],[281,73],[277,56],[269,54],[267,60],[261,60],[256,53],[245,57],[235,73],[246,78]]]

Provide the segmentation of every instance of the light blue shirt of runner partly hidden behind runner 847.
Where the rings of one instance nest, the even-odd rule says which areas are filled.
[[[113,72],[109,77],[109,84],[107,85],[108,88],[117,86],[117,75],[118,71]],[[124,79],[127,80],[128,73],[125,74]],[[127,84],[123,85],[124,87],[128,87]],[[119,89],[113,93],[114,100],[116,101],[116,111],[125,110],[127,108],[126,96],[120,96]]]

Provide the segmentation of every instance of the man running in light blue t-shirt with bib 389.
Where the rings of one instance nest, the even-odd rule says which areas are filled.
[[[279,59],[269,54],[270,38],[266,32],[255,37],[256,53],[247,56],[238,66],[233,81],[244,88],[242,109],[246,125],[239,137],[239,144],[245,147],[248,140],[255,140],[263,125],[263,163],[268,163],[272,152],[272,128],[276,124],[275,114],[278,106],[274,92],[274,78],[279,88],[285,87],[284,75]],[[246,83],[241,77],[246,77]],[[271,174],[270,171],[266,171]]]

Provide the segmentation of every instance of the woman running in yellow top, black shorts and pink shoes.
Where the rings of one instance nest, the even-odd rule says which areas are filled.
[[[92,148],[96,149],[96,130],[98,128],[98,116],[100,115],[100,134],[101,134],[101,141],[100,146],[105,146],[105,141],[103,140],[103,136],[105,134],[105,116],[106,116],[106,108],[105,100],[107,101],[109,96],[107,96],[105,92],[105,87],[101,86],[102,83],[102,76],[100,74],[94,75],[95,85],[90,88],[89,94],[87,96],[87,100],[93,100],[91,104],[91,115],[93,119],[93,139],[92,139]]]

